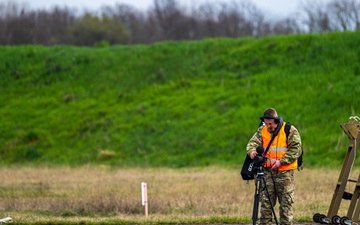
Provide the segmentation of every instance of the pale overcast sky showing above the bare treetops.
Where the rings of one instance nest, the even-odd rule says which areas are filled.
[[[6,3],[9,0],[0,0],[2,3]],[[191,4],[199,4],[206,0],[178,0],[181,4],[189,6]],[[207,0],[208,2],[216,0]],[[221,2],[231,2],[236,0],[221,0]],[[296,11],[300,1],[304,0],[249,0],[254,3],[260,10],[266,13],[279,14],[287,16],[291,12]],[[313,0],[321,2],[329,2],[330,0]],[[103,5],[111,6],[115,3],[125,3],[136,7],[137,9],[146,10],[149,6],[153,5],[154,0],[15,0],[15,2],[27,3],[35,9],[48,9],[52,6],[68,6],[70,8],[76,8],[78,10],[90,9],[98,10]]]

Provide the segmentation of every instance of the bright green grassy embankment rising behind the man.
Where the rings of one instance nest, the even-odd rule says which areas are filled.
[[[241,165],[267,107],[305,166],[339,166],[359,115],[360,35],[0,47],[2,164]]]

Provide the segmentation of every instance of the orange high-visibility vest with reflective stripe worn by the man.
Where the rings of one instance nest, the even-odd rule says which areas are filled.
[[[288,146],[286,142],[286,133],[284,131],[285,124],[283,123],[278,135],[274,138],[273,142],[271,143],[269,150],[266,153],[266,157],[268,160],[265,162],[265,167],[272,167],[277,159],[281,159],[285,156]],[[263,141],[263,148],[266,148],[269,145],[271,140],[270,132],[268,131],[267,127],[264,126],[261,131],[261,137]],[[283,164],[279,167],[278,170],[292,170],[297,168],[297,160],[295,160],[291,164]]]

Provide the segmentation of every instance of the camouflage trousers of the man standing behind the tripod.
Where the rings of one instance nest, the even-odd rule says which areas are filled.
[[[294,170],[270,171],[264,169],[264,178],[270,198],[268,198],[265,188],[263,188],[261,191],[260,224],[271,224],[273,215],[270,201],[275,206],[276,200],[279,202],[280,225],[292,224],[292,204],[294,203],[295,190]],[[277,219],[279,221],[278,217]]]

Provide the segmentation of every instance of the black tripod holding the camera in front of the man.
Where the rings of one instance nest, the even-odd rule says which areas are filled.
[[[275,219],[276,225],[278,225],[278,221],[276,219],[274,206],[273,206],[273,204],[271,202],[270,194],[269,194],[269,191],[268,191],[267,186],[266,186],[266,182],[265,182],[265,178],[264,178],[263,165],[261,164],[258,167],[258,170],[256,172],[256,188],[255,188],[254,208],[253,208],[253,217],[252,217],[253,225],[256,225],[256,221],[259,219],[258,218],[259,200],[260,200],[260,193],[261,193],[262,190],[266,191],[266,196],[269,198],[270,205],[271,205],[271,210],[272,210],[272,213],[274,214],[274,219]]]

